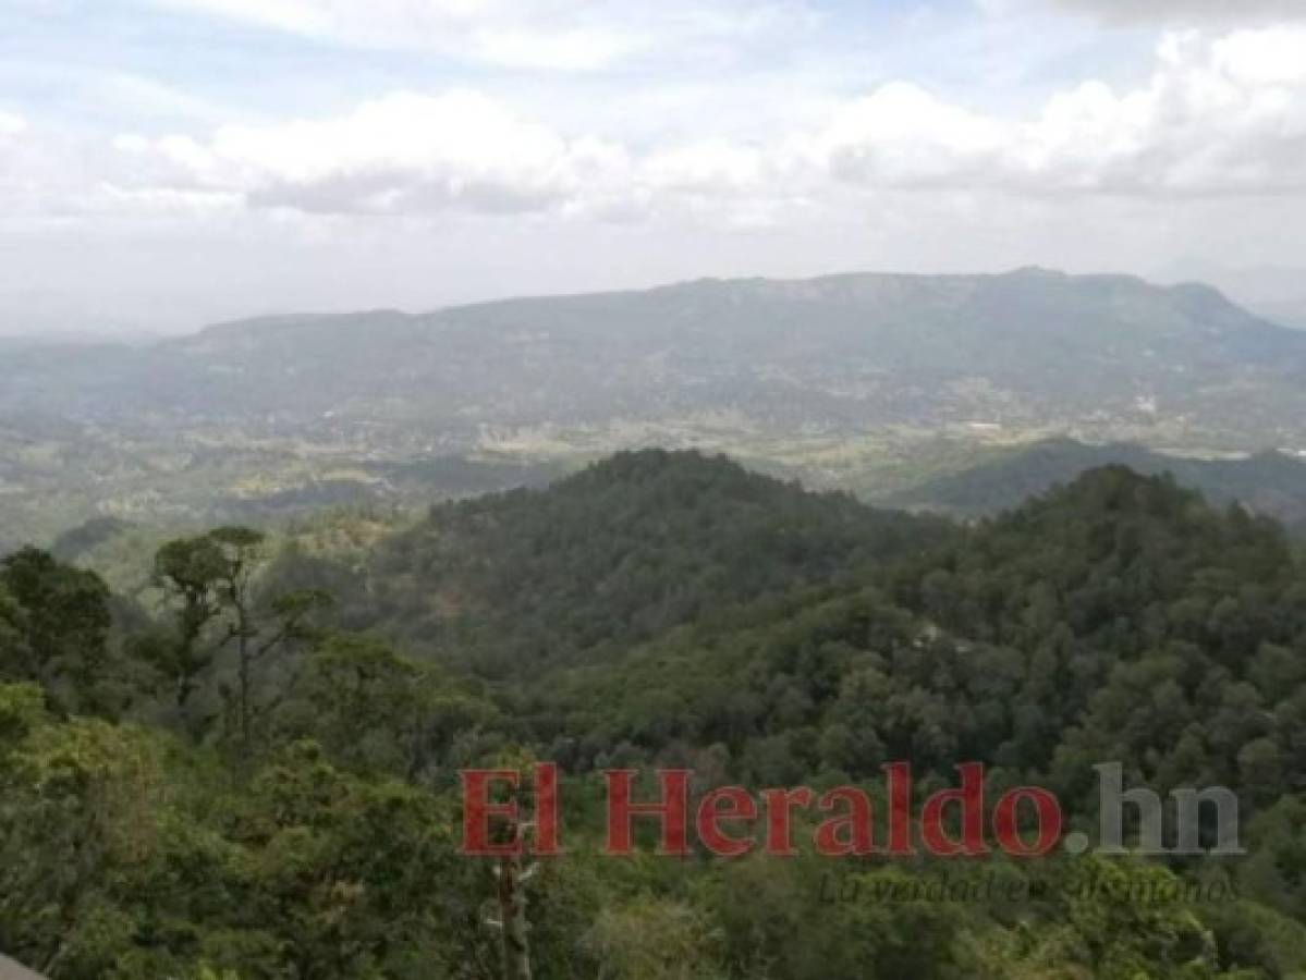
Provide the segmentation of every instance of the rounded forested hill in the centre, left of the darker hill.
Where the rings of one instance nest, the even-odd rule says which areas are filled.
[[[849,578],[948,534],[942,521],[811,493],[725,457],[640,450],[545,489],[438,505],[376,549],[366,586],[294,552],[278,574],[334,583],[351,625],[498,673]]]

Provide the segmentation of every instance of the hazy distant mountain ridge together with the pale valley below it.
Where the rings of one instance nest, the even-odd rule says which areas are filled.
[[[383,479],[431,498],[449,487],[423,474],[448,459],[495,461],[456,480],[465,493],[515,468],[699,448],[874,496],[1057,435],[1306,448],[1306,331],[1200,284],[1045,269],[291,314],[3,361],[0,540],[196,521],[214,500],[389,500]]]

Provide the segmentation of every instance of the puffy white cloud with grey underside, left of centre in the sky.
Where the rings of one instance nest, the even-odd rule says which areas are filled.
[[[469,90],[393,93],[337,119],[225,127],[202,142],[124,136],[118,147],[178,189],[321,214],[538,211],[624,166],[614,145],[567,140]]]

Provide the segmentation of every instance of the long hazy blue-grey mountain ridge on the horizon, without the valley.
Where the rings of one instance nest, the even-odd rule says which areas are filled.
[[[1286,424],[1288,405],[1306,410],[1306,335],[1209,287],[1042,269],[707,279],[417,316],[282,316],[145,350],[13,360],[0,410],[422,421],[464,440],[485,424],[726,410],[831,429],[1104,414],[1217,424],[1243,407],[1258,424]]]

